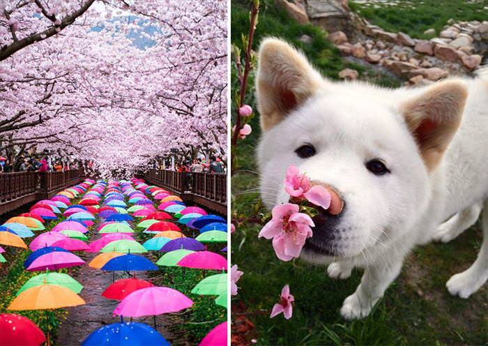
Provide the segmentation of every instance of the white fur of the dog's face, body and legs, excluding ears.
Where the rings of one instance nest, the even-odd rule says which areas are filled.
[[[292,163],[312,180],[337,188],[346,201],[335,229],[336,255],[305,250],[300,255],[307,262],[329,264],[328,275],[333,278],[349,277],[353,267],[365,269],[358,289],[342,306],[346,319],[368,315],[415,245],[433,237],[455,238],[475,222],[487,200],[488,78],[455,81],[468,89],[462,123],[432,172],[399,110],[402,102],[422,95],[426,88],[390,90],[323,80],[312,97],[262,135],[258,160],[261,196],[268,208],[288,202],[283,181]],[[315,156],[296,155],[305,143],[315,146]],[[365,162],[373,158],[384,160],[391,174],[369,172]],[[487,280],[486,216],[483,227],[478,260],[448,281],[451,294],[466,298]]]

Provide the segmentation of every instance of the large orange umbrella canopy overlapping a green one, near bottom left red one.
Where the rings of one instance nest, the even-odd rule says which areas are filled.
[[[44,310],[83,305],[85,301],[71,289],[43,284],[26,289],[10,303],[7,310]]]

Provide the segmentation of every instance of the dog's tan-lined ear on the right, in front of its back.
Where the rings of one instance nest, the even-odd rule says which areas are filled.
[[[427,170],[439,164],[461,123],[468,90],[462,82],[446,81],[429,87],[401,107]]]

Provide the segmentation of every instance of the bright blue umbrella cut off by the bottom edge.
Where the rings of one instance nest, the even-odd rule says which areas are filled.
[[[107,324],[93,331],[82,346],[171,346],[153,327],[139,322]]]

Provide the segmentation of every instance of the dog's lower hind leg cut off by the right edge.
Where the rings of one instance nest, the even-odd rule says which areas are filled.
[[[450,294],[464,299],[478,291],[488,279],[488,200],[483,207],[485,209],[482,216],[483,243],[480,253],[468,269],[452,276],[446,284]]]

